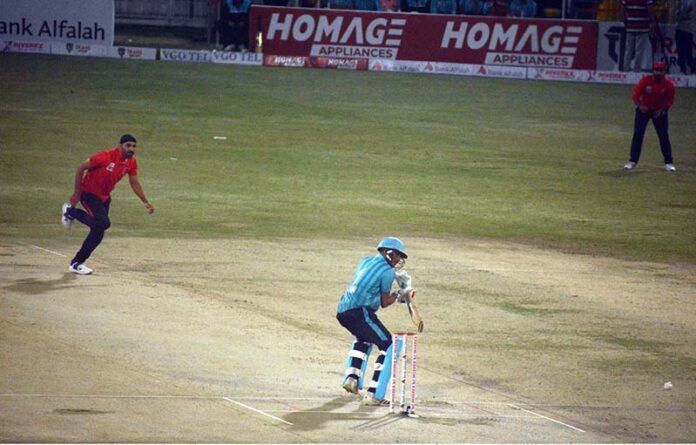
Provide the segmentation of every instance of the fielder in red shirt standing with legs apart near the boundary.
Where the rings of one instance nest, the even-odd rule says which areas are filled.
[[[638,166],[643,138],[648,122],[653,121],[660,149],[665,161],[665,170],[674,172],[672,144],[669,141],[669,119],[667,112],[674,105],[674,83],[665,76],[665,63],[656,62],[653,74],[643,77],[633,89],[633,103],[636,104],[636,117],[631,141],[631,158],[624,169],[633,170]]]

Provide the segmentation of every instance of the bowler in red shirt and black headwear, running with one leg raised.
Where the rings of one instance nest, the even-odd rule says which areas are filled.
[[[130,134],[124,134],[117,147],[99,152],[77,167],[75,191],[70,197],[70,202],[63,204],[63,226],[69,229],[73,222],[78,220],[89,227],[89,234],[70,261],[68,271],[79,275],[92,273],[92,269],[85,266],[84,262],[99,246],[104,238],[104,232],[111,226],[109,220],[111,192],[126,174],[133,192],[145,204],[145,210],[148,213],[155,211],[138,181],[136,147],[135,138]],[[75,207],[78,201],[85,210]]]

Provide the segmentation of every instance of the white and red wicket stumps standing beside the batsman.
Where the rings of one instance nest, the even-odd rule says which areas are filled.
[[[411,399],[406,401],[406,368],[408,367],[408,339],[411,338]],[[399,347],[401,343],[401,347]],[[416,417],[416,353],[418,350],[418,334],[415,332],[398,332],[392,335],[392,362],[390,378],[389,412],[396,408],[396,371],[399,355],[401,358],[401,391],[399,394],[399,412]]]

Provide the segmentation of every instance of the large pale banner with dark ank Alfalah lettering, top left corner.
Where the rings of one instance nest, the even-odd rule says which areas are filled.
[[[114,43],[114,0],[0,0],[0,39]]]

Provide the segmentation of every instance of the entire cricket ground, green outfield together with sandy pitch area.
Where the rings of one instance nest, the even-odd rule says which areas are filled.
[[[622,170],[630,86],[0,62],[4,441],[694,441],[696,90],[670,174],[652,127]],[[78,277],[59,209],[126,132],[156,211],[122,181]],[[425,320],[415,422],[339,387],[338,295],[386,235]]]

